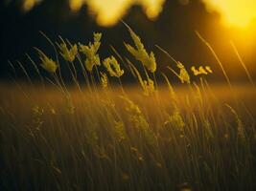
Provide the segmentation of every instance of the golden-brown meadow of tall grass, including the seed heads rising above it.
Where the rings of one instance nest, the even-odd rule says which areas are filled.
[[[158,83],[154,54],[128,32],[134,45],[125,46],[135,59],[112,47],[114,56],[102,60],[101,33],[88,45],[61,37],[53,43],[42,33],[56,56],[37,48],[40,61],[27,55],[40,80],[19,63],[27,82],[0,85],[1,190],[256,189],[255,87],[248,71],[251,83],[234,85],[222,70],[226,83],[211,84],[210,67],[186,69],[158,47],[173,62]],[[126,73],[137,83],[124,85]]]

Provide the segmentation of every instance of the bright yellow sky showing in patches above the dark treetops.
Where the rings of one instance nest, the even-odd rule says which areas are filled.
[[[88,10],[101,26],[113,26],[132,6],[140,6],[151,19],[157,18],[166,0],[69,0],[71,11]],[[208,11],[217,11],[226,26],[245,28],[256,21],[256,0],[201,0]],[[23,10],[30,11],[42,0],[23,0]],[[179,0],[180,5],[189,5],[190,0]]]

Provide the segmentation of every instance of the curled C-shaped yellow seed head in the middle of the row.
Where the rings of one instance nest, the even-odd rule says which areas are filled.
[[[120,77],[124,74],[124,70],[120,69],[120,65],[114,56],[105,58],[104,66],[111,76]]]

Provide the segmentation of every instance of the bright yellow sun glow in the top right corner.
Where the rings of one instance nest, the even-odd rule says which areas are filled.
[[[256,19],[255,0],[202,0],[208,10],[219,11],[225,25],[247,27]]]

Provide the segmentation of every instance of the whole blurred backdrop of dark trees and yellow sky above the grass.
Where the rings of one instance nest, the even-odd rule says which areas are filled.
[[[142,37],[146,47],[157,54],[161,71],[171,61],[155,48],[155,44],[188,67],[212,66],[218,72],[212,78],[221,80],[220,69],[198,39],[195,33],[198,31],[220,55],[234,80],[244,79],[244,73],[231,41],[256,76],[254,0],[4,0],[0,6],[3,29],[0,32],[1,78],[11,73],[8,60],[24,61],[24,53],[34,55],[33,47],[49,49],[51,53],[39,31],[54,40],[58,40],[60,34],[71,41],[84,43],[91,39],[92,32],[104,32],[103,56],[111,53],[107,44],[127,56],[123,41],[130,38],[120,19],[126,21]]]

